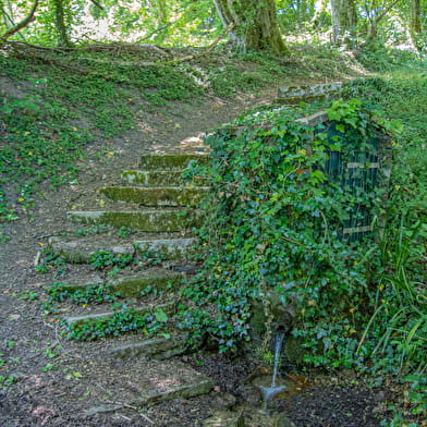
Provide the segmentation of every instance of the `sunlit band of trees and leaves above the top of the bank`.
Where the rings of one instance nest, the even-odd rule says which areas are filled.
[[[232,26],[230,40],[243,50],[286,53],[286,37],[303,33],[335,45],[410,41],[423,50],[426,12],[426,0],[1,0],[0,34],[41,46],[206,46]]]

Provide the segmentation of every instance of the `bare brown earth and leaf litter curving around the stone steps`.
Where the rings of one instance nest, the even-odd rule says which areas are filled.
[[[211,414],[218,391],[245,399],[242,385],[253,366],[212,353],[178,359],[212,378],[216,388],[207,395],[179,399],[144,410],[134,407],[86,416],[91,393],[111,378],[112,401],[120,400],[114,378],[145,369],[144,359],[99,361],[98,343],[76,343],[60,333],[58,319],[44,316],[44,286],[52,274],[35,271],[35,259],[48,239],[75,227],[65,212],[89,200],[97,188],[115,184],[120,171],[137,166],[142,152],[191,151],[193,136],[229,122],[242,111],[271,102],[277,87],[263,93],[241,94],[233,100],[205,98],[197,105],[170,102],[147,112],[141,126],[117,137],[99,139],[86,148],[78,183],[57,190],[41,188],[42,198],[30,215],[7,224],[10,241],[0,252],[0,425],[13,426],[198,426]],[[108,156],[93,156],[94,152]],[[82,202],[83,200],[83,202]],[[87,271],[82,271],[83,274]],[[305,374],[308,387],[272,403],[297,427],[374,427],[388,417],[387,403],[396,391],[368,386],[353,373],[332,376]],[[256,402],[252,403],[256,405]]]

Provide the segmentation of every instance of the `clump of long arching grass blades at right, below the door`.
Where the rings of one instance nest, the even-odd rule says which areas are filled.
[[[381,260],[375,313],[359,343],[370,347],[375,367],[392,374],[395,370],[424,371],[427,344],[427,225],[401,217],[400,227],[386,227],[379,240],[377,256]],[[368,337],[367,342],[364,342]],[[370,342],[369,342],[370,337]]]

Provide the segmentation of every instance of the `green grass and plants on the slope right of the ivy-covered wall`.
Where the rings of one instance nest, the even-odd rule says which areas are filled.
[[[427,353],[426,77],[355,81],[349,93],[405,123],[393,142],[391,191],[382,206],[387,220],[375,254],[381,266],[375,312],[359,346],[370,347],[381,370],[422,373]]]

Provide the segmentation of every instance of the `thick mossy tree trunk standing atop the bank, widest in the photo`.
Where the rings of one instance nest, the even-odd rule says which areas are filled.
[[[274,0],[213,0],[222,24],[234,25],[230,38],[243,50],[288,53],[280,34]]]

